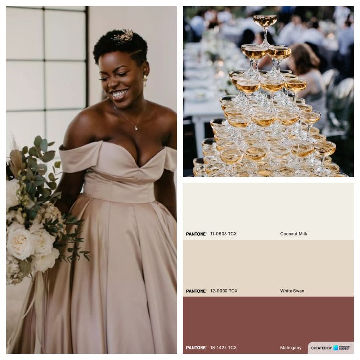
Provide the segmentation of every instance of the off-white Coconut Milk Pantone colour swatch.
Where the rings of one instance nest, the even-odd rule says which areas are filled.
[[[185,240],[353,240],[353,184],[183,186]]]

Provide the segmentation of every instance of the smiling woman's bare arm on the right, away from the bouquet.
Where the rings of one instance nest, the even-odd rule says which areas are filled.
[[[177,121],[176,113],[171,112],[170,115],[170,130],[166,146],[173,149],[177,148]],[[155,199],[162,203],[176,219],[176,190],[174,184],[174,173],[169,170],[164,170],[161,178],[154,183]]]

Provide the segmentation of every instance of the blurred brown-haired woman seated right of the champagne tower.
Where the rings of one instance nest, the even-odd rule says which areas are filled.
[[[295,44],[291,48],[287,65],[295,75],[306,80],[305,90],[300,91],[298,95],[303,97],[314,110],[321,112],[321,118],[316,123],[316,127],[323,129],[327,121],[326,88],[318,70],[319,58],[309,45]]]

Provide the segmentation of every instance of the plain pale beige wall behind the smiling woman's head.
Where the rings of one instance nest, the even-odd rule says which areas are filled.
[[[89,7],[89,105],[100,100],[98,67],[92,60],[97,40],[107,31],[129,28],[148,43],[150,75],[145,98],[176,111],[176,7]]]

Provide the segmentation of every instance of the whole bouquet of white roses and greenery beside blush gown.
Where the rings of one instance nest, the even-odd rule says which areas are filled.
[[[56,189],[54,163],[48,172],[46,163],[55,157],[48,150],[54,142],[37,136],[34,146],[14,149],[6,164],[6,283],[18,284],[55,265],[55,261],[71,262],[89,251],[79,251],[81,221],[71,214],[62,216],[54,206],[61,193]],[[73,225],[67,233],[67,225]],[[67,255],[68,256],[67,256]]]

